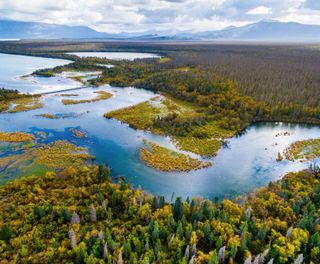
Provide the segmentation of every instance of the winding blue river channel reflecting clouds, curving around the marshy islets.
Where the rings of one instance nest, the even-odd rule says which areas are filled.
[[[1,61],[4,58],[11,60],[11,56],[0,54],[0,59]],[[30,67],[24,69],[24,65],[33,65],[33,60],[38,59],[15,56],[14,61],[17,63],[15,67],[18,68],[16,71],[23,72],[22,74],[32,71]],[[64,63],[61,60],[43,60],[44,65],[47,65],[45,60],[49,60],[52,64]],[[12,62],[11,65],[14,67]],[[2,70],[3,68],[0,68],[0,83],[9,84],[10,75],[8,77],[1,73]],[[55,80],[47,79],[54,86]],[[28,81],[22,80],[19,89],[21,91],[41,90],[41,85],[41,82],[36,83],[37,88],[33,88],[30,87]],[[97,90],[111,92],[113,97],[105,101],[87,104],[65,106],[61,103],[61,100],[66,98],[93,98],[95,97],[94,91]],[[119,121],[103,117],[103,114],[108,111],[146,101],[154,97],[154,93],[133,87],[117,88],[108,85],[99,88],[88,87],[68,93],[77,93],[79,96],[61,96],[66,92],[45,95],[42,99],[44,103],[42,109],[15,114],[0,114],[0,131],[33,133],[46,131],[52,135],[53,139],[70,139],[68,128],[84,129],[88,132],[89,138],[82,141],[77,139],[76,143],[88,147],[98,162],[107,163],[112,168],[114,177],[124,176],[131,180],[134,186],[141,186],[146,191],[165,195],[167,198],[170,198],[173,192],[176,196],[184,198],[187,196],[208,198],[218,196],[223,198],[226,195],[234,196],[267,185],[270,181],[279,179],[286,172],[301,170],[309,165],[308,163],[286,160],[276,162],[278,151],[282,151],[296,140],[320,136],[320,128],[317,126],[285,123],[254,124],[248,128],[244,135],[230,139],[229,148],[221,149],[217,157],[211,159],[214,166],[189,173],[165,173],[151,169],[141,162],[139,149],[143,146],[144,138],[174,149],[175,147],[169,138],[136,131]],[[70,117],[52,120],[38,116],[44,113],[69,114]],[[77,115],[79,117],[76,117]],[[284,132],[289,132],[290,135],[285,136]],[[280,135],[277,136],[279,133]]]

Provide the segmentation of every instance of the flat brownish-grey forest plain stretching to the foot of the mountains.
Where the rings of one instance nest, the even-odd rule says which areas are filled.
[[[316,44],[193,42],[10,42],[0,51],[61,57],[63,51],[143,51],[219,72],[257,100],[319,107],[320,47]],[[53,52],[53,53],[52,53]],[[51,53],[49,55],[48,53]],[[72,58],[71,55],[68,55]]]

